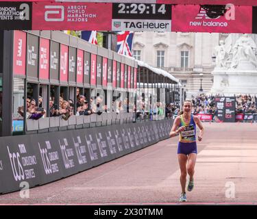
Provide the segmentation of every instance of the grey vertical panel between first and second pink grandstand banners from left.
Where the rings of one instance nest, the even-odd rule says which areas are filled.
[[[38,78],[38,36],[27,34],[27,76]]]

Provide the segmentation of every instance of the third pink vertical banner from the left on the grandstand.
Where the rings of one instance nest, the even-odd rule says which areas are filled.
[[[68,81],[68,46],[60,47],[60,81]]]

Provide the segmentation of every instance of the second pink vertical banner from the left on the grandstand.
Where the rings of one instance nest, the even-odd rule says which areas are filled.
[[[45,38],[40,38],[39,43],[39,78],[49,79],[50,41]]]

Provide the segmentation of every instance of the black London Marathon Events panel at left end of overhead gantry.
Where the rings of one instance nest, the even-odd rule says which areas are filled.
[[[32,3],[0,2],[0,29],[32,29]]]

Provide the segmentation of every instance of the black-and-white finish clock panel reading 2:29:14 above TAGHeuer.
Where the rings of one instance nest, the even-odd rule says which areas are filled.
[[[171,5],[113,3],[113,31],[171,31]]]

